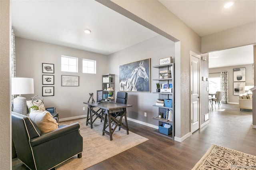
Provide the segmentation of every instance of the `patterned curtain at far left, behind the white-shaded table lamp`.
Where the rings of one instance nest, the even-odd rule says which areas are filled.
[[[16,77],[16,57],[15,57],[15,37],[14,32],[12,29],[12,36],[11,36],[11,45],[10,45],[10,67],[11,67],[11,77]],[[12,100],[14,99],[14,95],[12,95]]]

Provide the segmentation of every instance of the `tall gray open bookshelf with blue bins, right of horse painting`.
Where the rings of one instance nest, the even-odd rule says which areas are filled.
[[[174,112],[174,63],[170,63],[170,64],[164,64],[164,65],[156,65],[153,66],[153,68],[158,69],[158,73],[162,70],[170,70],[171,71],[171,78],[165,78],[165,79],[153,79],[153,81],[155,81],[157,83],[160,83],[160,88],[162,87],[162,83],[165,84],[172,84],[172,93],[168,93],[168,92],[153,92],[153,93],[157,93],[158,95],[158,99],[172,99],[172,107],[165,107],[165,106],[159,106],[159,105],[153,105],[154,107],[158,107],[158,114],[159,113],[165,113],[166,111],[172,111],[172,121],[168,121],[166,119],[160,119],[158,118],[158,114],[156,115],[156,117],[153,117],[154,120],[158,121],[158,125],[159,125],[159,130],[158,132],[160,132],[160,128],[161,130],[162,125],[168,124],[172,127],[171,133],[170,134],[165,134],[167,136],[169,136],[170,138],[174,139],[174,134],[175,134],[175,125],[174,125],[174,120],[175,120],[175,112]],[[156,99],[157,100],[157,99]],[[161,134],[163,134],[162,132],[160,132]]]

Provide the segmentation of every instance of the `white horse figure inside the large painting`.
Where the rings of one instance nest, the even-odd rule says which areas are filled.
[[[137,91],[136,83],[139,77],[142,77],[144,81],[148,81],[148,75],[144,67],[143,61],[140,65],[132,70],[130,78],[126,78],[120,82],[120,91]]]

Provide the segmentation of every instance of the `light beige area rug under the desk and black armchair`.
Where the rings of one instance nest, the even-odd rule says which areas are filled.
[[[122,128],[118,130],[116,128],[113,140],[110,141],[109,135],[105,134],[102,136],[103,122],[100,122],[100,119],[93,123],[92,129],[90,125],[86,126],[86,119],[59,124],[70,125],[75,122],[80,124],[80,134],[83,137],[82,158],[74,156],[57,166],[56,170],[84,170],[148,140],[148,138],[144,138],[131,131],[129,131],[129,134],[126,134],[126,130]]]

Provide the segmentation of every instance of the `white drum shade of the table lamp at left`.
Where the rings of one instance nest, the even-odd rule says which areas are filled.
[[[12,95],[33,94],[34,79],[25,77],[12,77]]]

